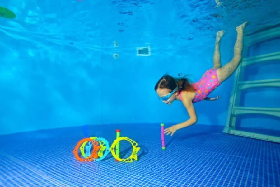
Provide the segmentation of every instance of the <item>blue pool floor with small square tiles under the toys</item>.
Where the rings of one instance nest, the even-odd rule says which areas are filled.
[[[85,138],[82,127],[0,136],[0,186],[280,186],[280,145],[194,125],[161,149],[160,125],[89,126],[90,136],[111,145],[115,130],[138,143],[138,161],[80,162],[72,150]],[[120,143],[120,155],[132,148]]]

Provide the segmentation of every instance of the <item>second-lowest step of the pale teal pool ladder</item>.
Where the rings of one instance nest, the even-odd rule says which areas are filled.
[[[232,115],[241,114],[265,114],[280,117],[280,108],[233,107]]]

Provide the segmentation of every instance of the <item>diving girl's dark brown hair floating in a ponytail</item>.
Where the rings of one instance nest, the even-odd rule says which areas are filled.
[[[188,91],[188,92],[195,92],[196,89],[193,85],[190,84],[189,79],[182,77],[182,78],[174,78],[168,74],[163,75],[155,85],[155,91],[158,88],[167,88],[173,91],[175,88],[178,90],[176,92],[181,91]]]

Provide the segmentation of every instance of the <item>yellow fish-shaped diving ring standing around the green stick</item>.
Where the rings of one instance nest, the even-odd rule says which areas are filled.
[[[133,151],[132,154],[126,158],[126,159],[121,159],[119,157],[117,157],[116,153],[115,153],[115,146],[117,144],[117,142],[121,141],[121,140],[127,140],[131,143]],[[119,137],[116,140],[114,140],[114,142],[112,143],[111,147],[110,147],[110,151],[112,153],[112,155],[114,156],[115,159],[117,159],[118,161],[121,162],[133,162],[132,159],[137,161],[137,152],[140,150],[140,147],[136,147],[138,144],[133,141],[132,139],[129,139],[128,137]]]

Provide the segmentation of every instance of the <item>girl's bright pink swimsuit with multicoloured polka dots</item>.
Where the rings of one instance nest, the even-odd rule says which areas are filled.
[[[205,99],[214,89],[220,86],[220,81],[217,77],[217,69],[207,70],[198,82],[192,84],[196,89],[196,96],[193,99],[193,103],[202,101]],[[180,93],[182,100],[182,92]]]

